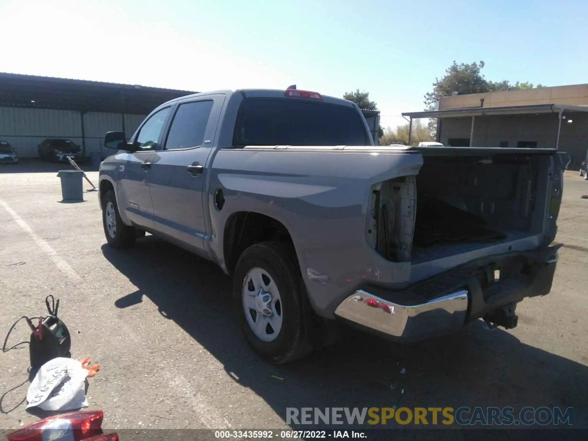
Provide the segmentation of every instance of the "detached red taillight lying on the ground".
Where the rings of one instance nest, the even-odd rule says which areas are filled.
[[[44,433],[55,431],[72,433],[74,441],[81,441],[89,436],[98,435],[102,426],[104,412],[102,410],[85,410],[84,412],[64,413],[50,416],[32,423],[22,429],[6,435],[8,441],[42,441]],[[118,437],[118,436],[117,436]],[[45,439],[61,439],[61,436],[45,436]],[[118,438],[117,438],[118,439]]]

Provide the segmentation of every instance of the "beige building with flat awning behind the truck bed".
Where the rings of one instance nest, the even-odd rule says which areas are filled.
[[[588,84],[446,96],[438,111],[403,115],[437,118],[443,145],[557,148],[576,163],[588,150]]]

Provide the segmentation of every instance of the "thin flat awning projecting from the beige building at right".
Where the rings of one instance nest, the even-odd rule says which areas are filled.
[[[567,104],[531,104],[527,106],[467,107],[439,111],[403,112],[409,118],[457,118],[459,116],[524,115],[530,113],[588,112],[588,106]]]

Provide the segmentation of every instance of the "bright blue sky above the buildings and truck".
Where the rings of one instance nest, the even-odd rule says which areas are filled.
[[[193,91],[370,92],[384,126],[436,77],[588,82],[586,1],[0,0],[0,71]]]

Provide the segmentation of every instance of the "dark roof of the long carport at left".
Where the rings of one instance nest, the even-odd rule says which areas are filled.
[[[0,106],[146,115],[192,91],[0,72]]]

